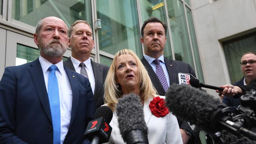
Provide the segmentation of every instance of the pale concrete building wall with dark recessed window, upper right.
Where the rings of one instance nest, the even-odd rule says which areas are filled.
[[[240,80],[241,56],[256,52],[256,0],[191,0],[191,9],[204,82]]]

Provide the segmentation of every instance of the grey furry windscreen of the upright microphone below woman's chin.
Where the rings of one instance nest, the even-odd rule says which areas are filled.
[[[133,93],[123,95],[118,100],[116,111],[120,133],[124,142],[126,142],[126,134],[131,130],[140,129],[148,134],[143,106],[138,95]]]

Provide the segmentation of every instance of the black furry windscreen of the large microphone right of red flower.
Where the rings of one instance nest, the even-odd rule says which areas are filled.
[[[171,85],[165,96],[169,111],[206,132],[217,129],[218,120],[210,118],[213,112],[226,107],[214,96],[190,85]]]

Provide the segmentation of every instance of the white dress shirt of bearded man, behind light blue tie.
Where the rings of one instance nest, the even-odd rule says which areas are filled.
[[[45,58],[39,56],[39,61],[42,66],[44,79],[45,79],[45,86],[48,93],[48,76],[50,71],[48,68],[53,65]],[[69,131],[69,123],[71,118],[71,108],[72,108],[72,89],[69,82],[69,78],[67,76],[66,71],[63,67],[63,61],[60,61],[56,64],[58,70],[56,70],[55,74],[58,79],[58,86],[59,86],[59,104],[60,104],[60,120],[61,120],[61,144],[63,144],[64,139]]]

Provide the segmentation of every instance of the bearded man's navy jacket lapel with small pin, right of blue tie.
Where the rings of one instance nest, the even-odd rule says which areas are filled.
[[[71,110],[71,119],[70,119],[70,126],[75,118],[77,106],[78,106],[78,100],[79,100],[79,86],[76,80],[76,77],[74,77],[73,72],[69,69],[67,69],[64,66],[64,69],[66,70],[67,76],[69,78],[69,82],[72,88],[72,110]]]

